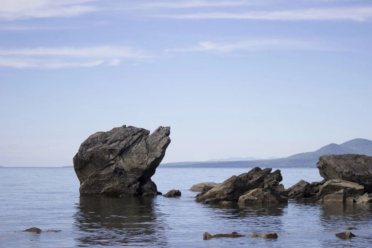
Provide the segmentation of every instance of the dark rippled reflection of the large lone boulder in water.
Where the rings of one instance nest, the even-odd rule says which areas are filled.
[[[74,215],[78,246],[165,245],[152,204],[152,197],[81,196]]]

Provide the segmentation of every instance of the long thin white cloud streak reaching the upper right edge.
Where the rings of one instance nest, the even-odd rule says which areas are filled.
[[[372,18],[372,7],[343,7],[298,9],[281,11],[255,11],[245,13],[213,12],[154,15],[173,19],[251,19],[251,20],[354,20],[363,22]]]

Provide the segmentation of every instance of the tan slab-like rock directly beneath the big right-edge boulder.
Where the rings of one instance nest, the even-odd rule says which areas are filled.
[[[332,179],[326,181],[319,190],[318,197],[323,197],[328,194],[336,193],[344,189],[347,196],[358,196],[364,194],[364,187],[357,183],[352,183],[349,181]]]

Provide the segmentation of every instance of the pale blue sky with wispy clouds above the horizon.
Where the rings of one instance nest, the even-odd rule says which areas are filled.
[[[372,1],[0,0],[0,165],[171,127],[163,162],[372,140]]]

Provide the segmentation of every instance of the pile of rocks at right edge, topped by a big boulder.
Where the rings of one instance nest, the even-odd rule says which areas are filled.
[[[311,197],[324,202],[372,202],[372,157],[357,154],[329,155],[319,158],[319,173],[324,180],[299,181],[288,189],[292,199]]]

